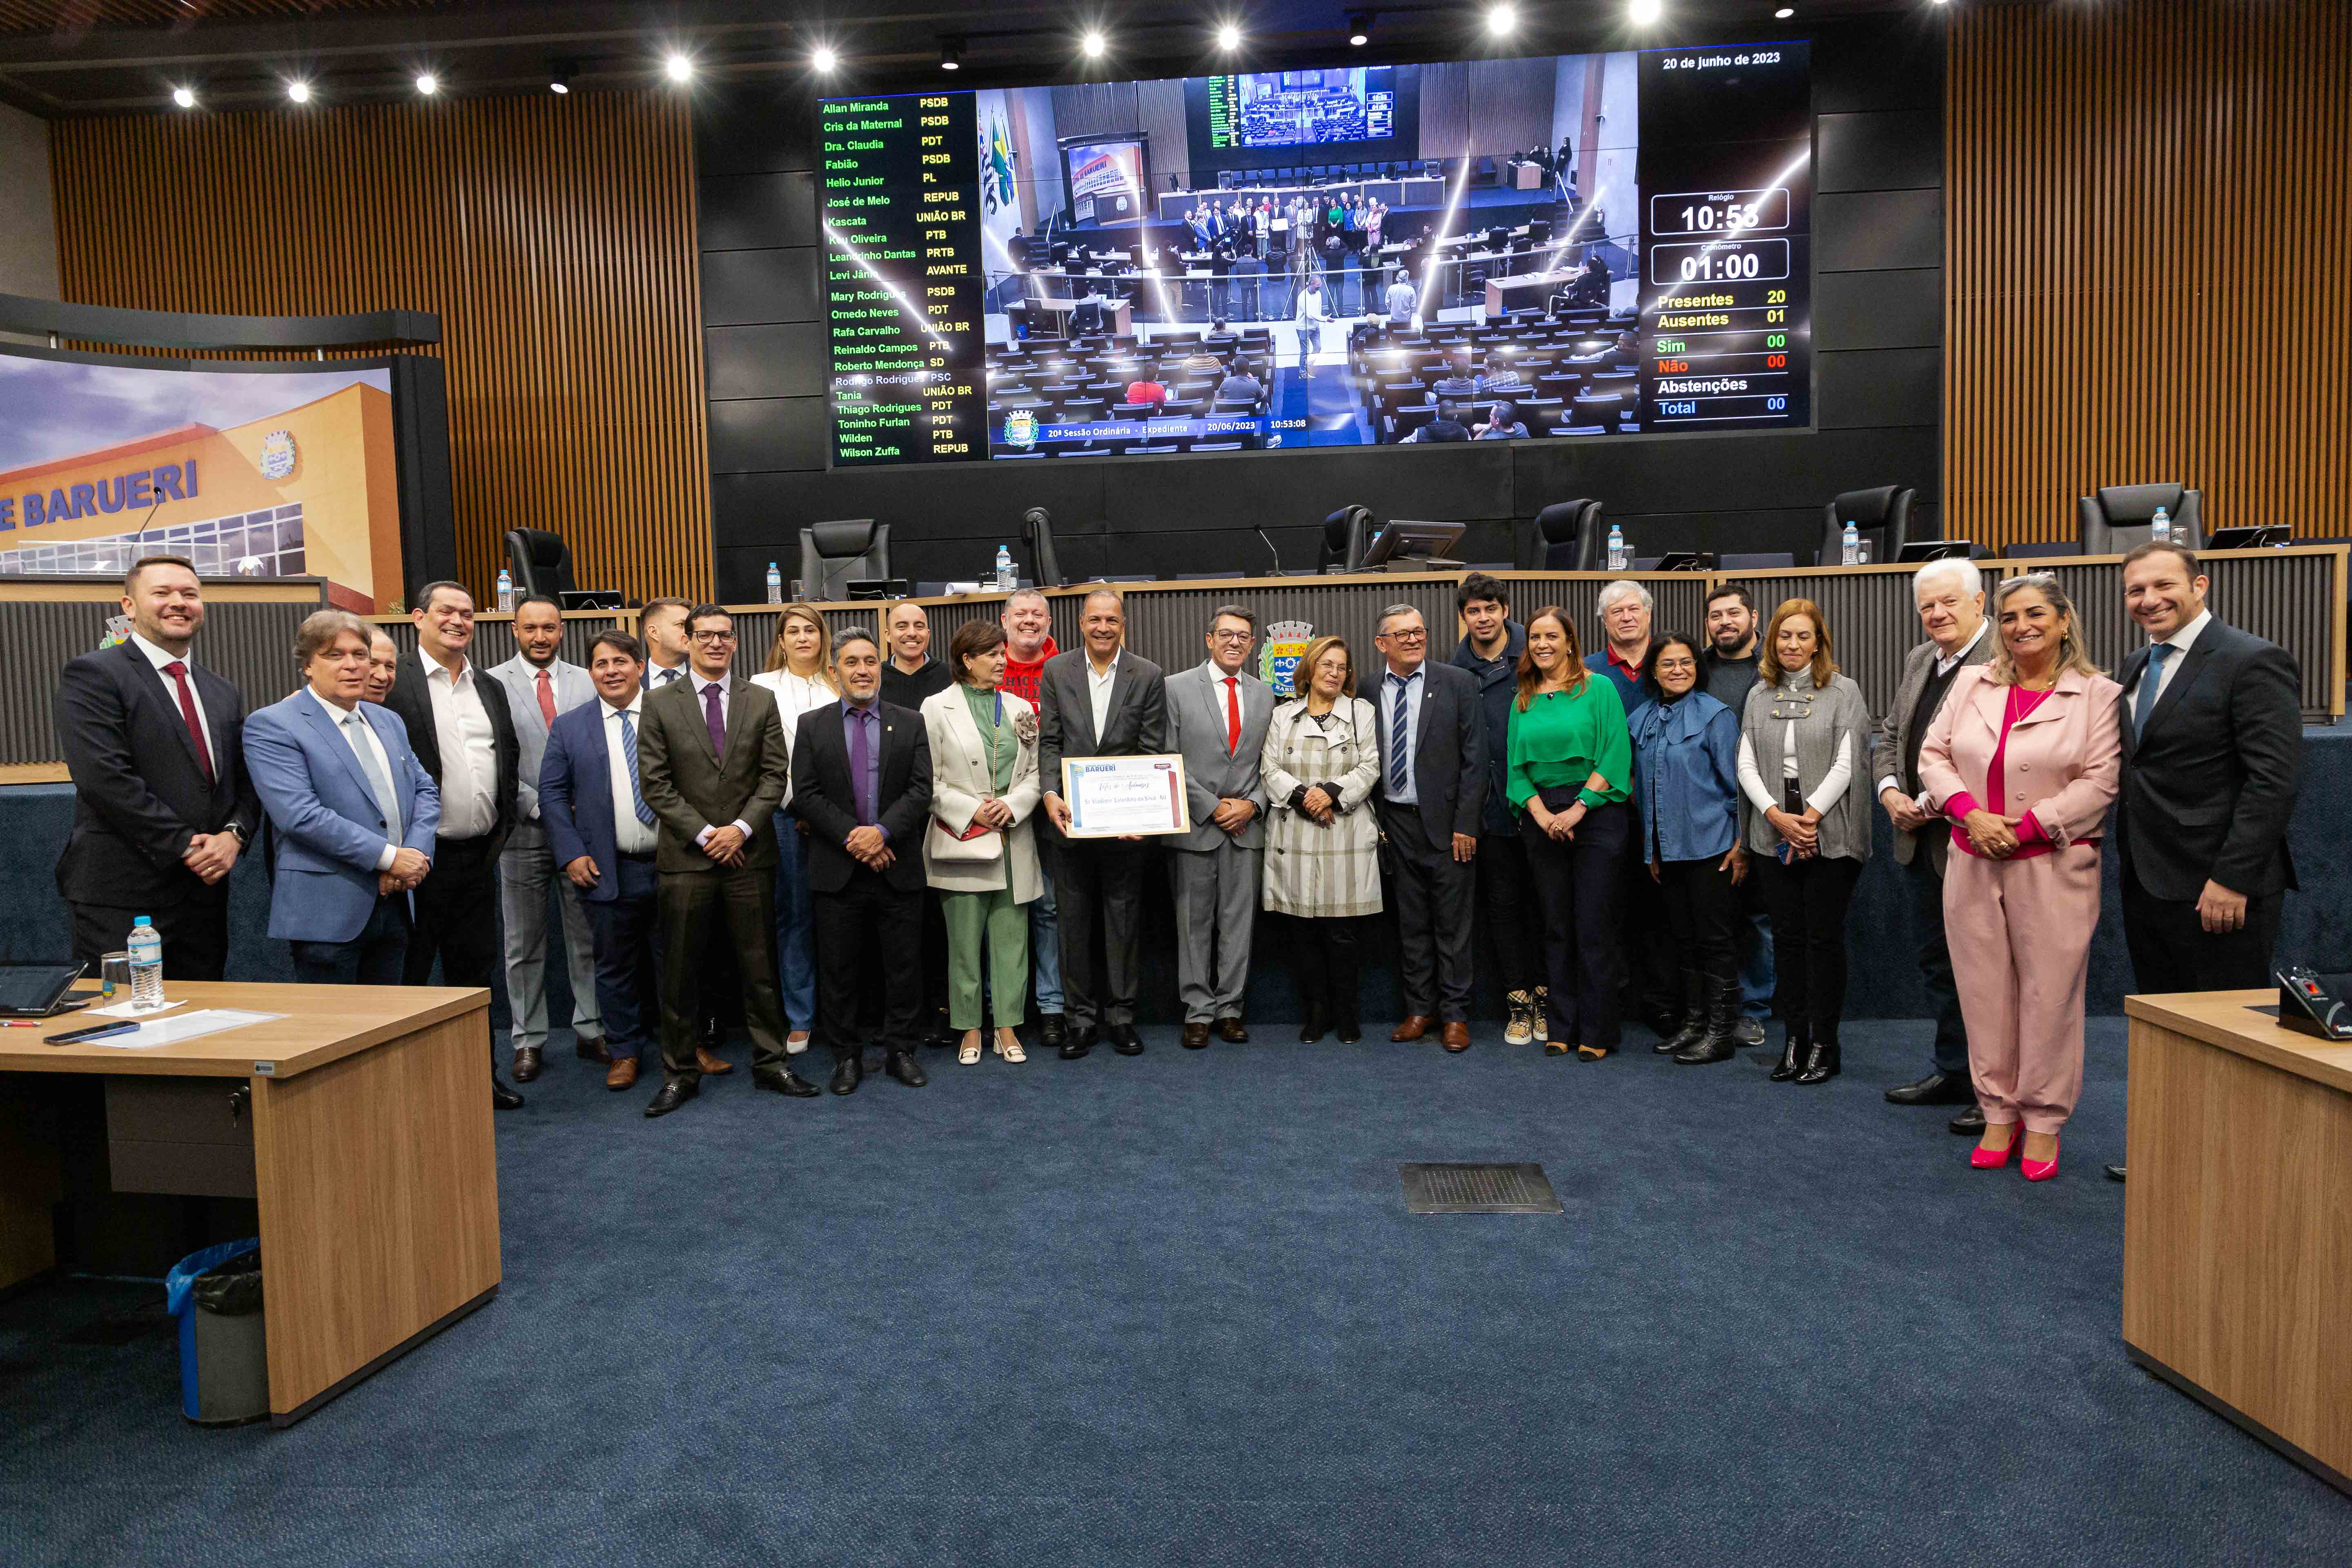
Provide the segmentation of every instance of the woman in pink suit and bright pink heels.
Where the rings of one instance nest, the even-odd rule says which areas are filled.
[[[2082,649],[2058,578],[1992,590],[1999,651],[1959,672],[1919,745],[1919,780],[1952,820],[1943,919],[1985,1107],[1978,1168],[2058,1175],[2082,1095],[2082,997],[2098,926],[2098,832],[2122,773],[2117,693]]]

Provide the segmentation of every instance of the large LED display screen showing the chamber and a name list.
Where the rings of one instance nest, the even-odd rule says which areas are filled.
[[[835,465],[1811,425],[1804,42],[818,118]]]

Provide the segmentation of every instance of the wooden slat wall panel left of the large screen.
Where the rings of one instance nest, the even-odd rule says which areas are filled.
[[[96,306],[442,317],[456,552],[708,597],[694,141],[675,94],[52,122],[64,294]]]

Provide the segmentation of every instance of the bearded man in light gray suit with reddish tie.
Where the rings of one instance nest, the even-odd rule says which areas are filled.
[[[595,682],[557,654],[564,607],[546,595],[515,602],[515,646],[489,677],[506,686],[522,762],[515,773],[515,830],[499,851],[499,912],[506,917],[506,1001],[515,1013],[515,1081],[529,1084],[548,1044],[548,886],[564,917],[564,966],[572,973],[572,1048],[581,1060],[609,1063],[604,1020],[595,1004],[595,938],[581,891],[555,875],[548,830],[539,820],[539,762],[548,755],[555,715],[595,701]]]

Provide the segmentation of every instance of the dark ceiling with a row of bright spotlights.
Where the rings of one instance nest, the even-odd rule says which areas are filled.
[[[1795,19],[1773,9],[1795,5]],[[1983,2],[1983,0],[1976,0]],[[1665,21],[1635,28],[1625,0],[1517,5],[1519,28],[1489,40],[1484,0],[1376,5],[1371,40],[1348,47],[1345,0],[0,0],[0,99],[38,115],[172,110],[191,87],[205,110],[285,108],[289,80],[308,80],[318,103],[414,96],[430,71],[454,96],[546,92],[555,71],[576,89],[661,82],[668,52],[696,61],[696,80],[809,80],[809,49],[833,45],[842,89],[929,82],[1075,82],[1188,75],[1214,68],[1279,68],[1367,61],[1545,54],[1646,42],[1700,42],[1907,9],[1924,26],[1929,0],[1665,0]],[[1240,54],[1211,33],[1232,19]],[[1077,49],[1101,26],[1103,59]],[[941,42],[962,45],[964,71],[938,68]]]

